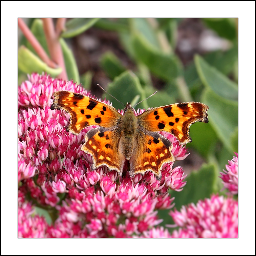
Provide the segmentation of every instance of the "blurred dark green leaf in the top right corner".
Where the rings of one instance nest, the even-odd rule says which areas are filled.
[[[236,39],[234,18],[203,18],[202,20],[220,37],[227,38],[231,41]]]

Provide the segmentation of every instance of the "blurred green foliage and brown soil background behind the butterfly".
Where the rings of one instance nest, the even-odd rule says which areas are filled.
[[[28,27],[48,52],[41,19],[26,19]],[[56,20],[54,20],[56,22]],[[219,172],[238,152],[238,20],[235,18],[74,18],[68,19],[59,42],[69,80],[81,83],[115,108],[136,108],[198,101],[209,106],[209,123],[190,127],[190,155],[183,166],[187,185],[170,191],[175,207],[196,203],[222,188]],[[20,33],[18,82],[27,73],[58,77],[61,68],[49,67]],[[169,211],[159,211],[170,223]]]

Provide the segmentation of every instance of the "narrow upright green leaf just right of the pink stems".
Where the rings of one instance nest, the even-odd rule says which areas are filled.
[[[61,49],[64,57],[66,72],[69,80],[80,84],[79,72],[73,52],[69,49],[64,39],[60,38]]]

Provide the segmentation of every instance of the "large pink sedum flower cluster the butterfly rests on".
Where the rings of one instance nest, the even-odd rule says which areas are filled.
[[[186,184],[182,168],[166,164],[160,182],[151,172],[131,178],[128,167],[123,177],[106,167],[90,171],[91,156],[81,151],[90,128],[79,135],[66,132],[69,114],[50,109],[52,93],[58,90],[89,95],[72,81],[39,74],[32,74],[18,90],[19,237],[132,237],[153,232],[162,221],[156,210],[173,207],[168,190],[180,191]],[[173,143],[177,160],[186,158],[185,147],[174,136],[162,135]],[[31,199],[35,206],[57,213],[52,225],[33,214]]]

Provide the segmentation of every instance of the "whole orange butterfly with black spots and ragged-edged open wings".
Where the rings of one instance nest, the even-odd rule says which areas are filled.
[[[122,115],[114,107],[83,94],[57,91],[53,96],[51,109],[63,109],[70,114],[67,131],[79,134],[85,127],[98,125],[86,133],[81,147],[92,157],[91,170],[105,165],[120,176],[129,161],[131,177],[151,171],[161,180],[163,165],[175,158],[172,143],[158,132],[169,132],[180,144],[186,144],[191,142],[191,124],[208,123],[208,106],[200,102],[150,108],[136,116],[130,103]]]

